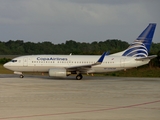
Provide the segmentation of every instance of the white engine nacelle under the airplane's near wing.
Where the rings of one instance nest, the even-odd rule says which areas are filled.
[[[63,78],[67,76],[67,72],[65,68],[52,68],[49,70],[49,76]]]

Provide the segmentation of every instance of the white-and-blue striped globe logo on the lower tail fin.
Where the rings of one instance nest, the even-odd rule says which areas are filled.
[[[147,57],[148,50],[142,42],[135,41],[122,56]]]

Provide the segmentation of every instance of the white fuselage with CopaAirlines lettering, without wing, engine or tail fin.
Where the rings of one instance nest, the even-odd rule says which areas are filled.
[[[4,65],[16,72],[48,72],[52,68],[68,68],[95,63],[97,55],[28,55],[14,58]],[[136,57],[105,56],[100,65],[92,66],[86,73],[118,71],[147,64],[150,60],[136,61]]]

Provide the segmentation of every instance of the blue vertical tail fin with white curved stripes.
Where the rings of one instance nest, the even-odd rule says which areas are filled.
[[[148,27],[139,35],[122,54],[122,56],[147,57],[152,44],[152,38],[156,28],[155,23],[150,23]]]

